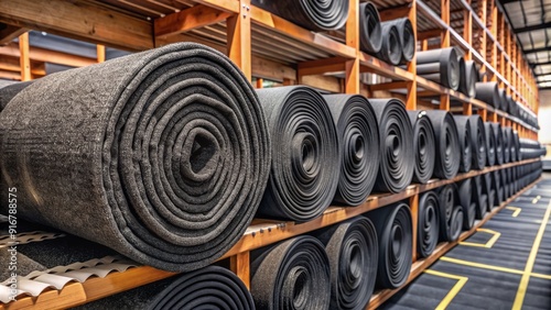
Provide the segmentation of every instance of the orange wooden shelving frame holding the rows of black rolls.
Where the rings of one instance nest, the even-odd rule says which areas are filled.
[[[250,0],[2,0],[0,22],[9,26],[0,32],[0,43],[9,43],[11,38],[21,36],[19,44],[9,43],[0,47],[0,55],[19,57],[20,73],[12,77],[28,80],[43,75],[40,70],[43,62],[54,59],[74,66],[102,62],[105,45],[142,51],[172,42],[193,41],[227,54],[251,81],[256,79],[257,87],[262,87],[262,80],[272,80],[281,85],[310,85],[332,92],[397,97],[410,110],[443,109],[467,115],[478,113],[484,121],[514,128],[521,137],[537,137],[537,129],[519,119],[417,76],[415,59],[401,68],[361,52],[357,10],[359,2],[350,0],[349,18],[344,32],[313,33],[251,5]],[[466,59],[473,59],[479,65],[484,80],[498,82],[507,95],[537,112],[536,80],[504,15],[493,0],[371,2],[378,7],[382,20],[408,16],[421,49],[458,46]],[[54,15],[58,18],[52,19]],[[30,47],[28,36],[22,34],[30,29],[96,43],[97,58]],[[12,68],[13,64],[0,64],[0,71],[6,71],[8,67]],[[381,81],[364,84],[365,73],[377,75]],[[223,258],[229,258],[230,268],[249,287],[251,250],[332,225],[397,201],[409,200],[414,247],[411,280],[516,197],[494,209],[475,228],[464,232],[457,242],[442,243],[430,257],[417,259],[417,218],[421,192],[537,160],[539,159],[486,167],[460,174],[450,180],[433,179],[426,185],[411,185],[395,195],[375,193],[358,207],[329,207],[322,217],[305,223],[256,219]],[[112,273],[105,278],[90,278],[83,284],[71,283],[61,290],[46,290],[37,297],[22,297],[9,305],[0,305],[0,309],[67,308],[172,275],[174,274],[139,266],[123,273]],[[377,291],[369,308],[381,305],[396,291]]]

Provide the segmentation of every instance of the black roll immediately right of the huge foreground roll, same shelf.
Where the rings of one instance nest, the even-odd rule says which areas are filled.
[[[257,215],[316,218],[331,204],[341,169],[338,135],[327,102],[305,86],[257,89],[257,93],[272,142],[270,177]]]

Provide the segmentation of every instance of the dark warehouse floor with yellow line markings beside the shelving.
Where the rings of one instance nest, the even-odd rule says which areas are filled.
[[[551,173],[381,309],[551,309]]]

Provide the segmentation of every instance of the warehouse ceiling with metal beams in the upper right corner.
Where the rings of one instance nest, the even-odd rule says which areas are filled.
[[[551,0],[498,0],[540,89],[551,89]]]

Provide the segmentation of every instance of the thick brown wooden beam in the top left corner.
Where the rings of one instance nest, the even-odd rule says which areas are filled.
[[[0,22],[127,51],[153,47],[151,21],[86,0],[2,0]]]

